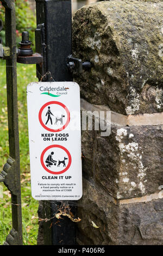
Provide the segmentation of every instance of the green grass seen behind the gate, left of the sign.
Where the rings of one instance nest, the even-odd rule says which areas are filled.
[[[20,137],[21,193],[22,193],[22,225],[23,245],[36,245],[38,222],[38,202],[32,198],[30,190],[30,167],[28,145],[28,120],[26,87],[30,82],[37,81],[35,65],[17,63],[17,96],[18,121]],[[9,157],[7,92],[5,78],[5,62],[0,60],[0,170]],[[11,229],[11,194],[0,184],[0,245]]]

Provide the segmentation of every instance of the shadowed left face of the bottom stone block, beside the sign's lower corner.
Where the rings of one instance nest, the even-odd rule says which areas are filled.
[[[117,242],[118,216],[114,199],[102,188],[83,179],[83,197],[78,203],[77,242],[80,245],[113,245]],[[92,221],[99,228],[94,228]]]

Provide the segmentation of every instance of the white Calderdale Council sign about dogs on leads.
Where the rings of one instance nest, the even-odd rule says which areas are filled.
[[[27,105],[33,198],[79,200],[82,151],[78,84],[30,83]]]

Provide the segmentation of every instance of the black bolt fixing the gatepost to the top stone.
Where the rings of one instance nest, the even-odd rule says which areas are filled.
[[[82,62],[82,59],[74,58],[72,55],[69,55],[66,60],[67,68],[70,71],[76,71],[81,74],[84,70],[89,70],[92,67],[91,62]]]

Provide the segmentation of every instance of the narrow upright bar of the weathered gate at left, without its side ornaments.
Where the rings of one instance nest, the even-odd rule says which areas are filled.
[[[17,77],[16,77],[16,16],[15,1],[2,1],[5,7],[5,41],[10,47],[11,56],[7,58],[7,102],[9,153],[14,159],[14,180],[16,191],[11,191],[12,228],[17,231],[17,244],[22,245],[22,212],[21,212],[21,182],[20,182],[20,151],[18,139],[18,109],[17,109]],[[12,234],[14,234],[12,232]]]

